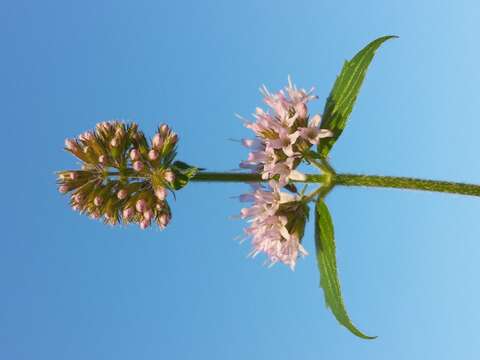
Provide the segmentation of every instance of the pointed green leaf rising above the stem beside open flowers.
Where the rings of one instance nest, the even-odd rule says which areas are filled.
[[[323,110],[321,128],[332,131],[333,136],[318,145],[318,153],[322,156],[328,155],[333,144],[342,134],[375,51],[383,42],[396,37],[380,37],[365,46],[352,60],[345,61]]]

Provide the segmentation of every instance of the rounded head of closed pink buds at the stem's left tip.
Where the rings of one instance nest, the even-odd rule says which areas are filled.
[[[99,123],[94,131],[65,140],[82,167],[58,172],[58,190],[70,195],[74,210],[91,218],[142,229],[155,222],[163,229],[171,220],[167,194],[176,188],[177,141],[165,124],[149,142],[135,123]]]

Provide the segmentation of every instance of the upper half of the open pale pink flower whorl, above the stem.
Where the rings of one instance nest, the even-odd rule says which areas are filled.
[[[316,99],[313,89],[297,89],[289,78],[284,91],[271,94],[263,86],[261,92],[272,112],[257,108],[256,121],[245,123],[256,138],[242,140],[250,153],[240,167],[260,173],[264,180],[273,180],[283,187],[290,180],[304,178],[296,168],[313,144],[332,133],[320,128],[319,114],[311,118],[308,114],[308,102]]]

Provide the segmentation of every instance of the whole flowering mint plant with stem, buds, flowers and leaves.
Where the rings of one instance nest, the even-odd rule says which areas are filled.
[[[297,88],[290,78],[275,93],[263,86],[267,109],[257,108],[253,120],[242,118],[252,137],[241,141],[248,154],[240,171],[210,172],[176,160],[179,138],[168,125],[159,126],[148,139],[136,123],[111,121],[65,141],[65,149],[81,167],[58,172],[58,190],[69,197],[74,210],[106,224],[136,224],[141,229],[157,224],[163,229],[172,218],[168,200],[189,182],[248,183],[250,191],[239,200],[245,204],[240,210],[240,218],[247,221],[242,239],[250,239],[250,255],[263,254],[269,266],[280,263],[292,270],[300,257],[308,255],[303,244],[310,239],[304,239],[304,230],[314,204],[314,241],[325,303],[341,325],[373,339],[353,325],[342,299],[334,224],[325,202],[331,189],[366,186],[480,196],[480,185],[338,174],[331,166],[330,150],[347,125],[374,54],[393,38],[380,37],[345,62],[321,114],[310,110],[318,98],[314,89]],[[299,170],[304,168],[310,170]]]

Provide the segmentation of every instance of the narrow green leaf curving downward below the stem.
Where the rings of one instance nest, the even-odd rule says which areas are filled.
[[[375,339],[376,336],[367,336],[358,330],[348,317],[338,280],[332,217],[321,198],[317,200],[315,208],[315,245],[320,286],[323,288],[327,307],[332,310],[338,322],[353,334],[362,339]]]

